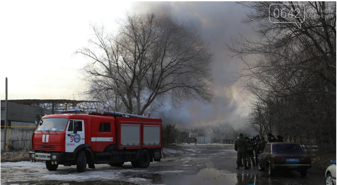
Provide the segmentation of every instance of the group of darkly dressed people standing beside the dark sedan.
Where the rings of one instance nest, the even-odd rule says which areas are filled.
[[[268,142],[284,142],[283,137],[280,135],[274,137],[273,134],[268,134]],[[237,168],[239,169],[240,166],[244,166],[245,169],[249,169],[251,167],[251,161],[253,163],[253,167],[257,166],[258,158],[257,155],[261,153],[264,148],[267,141],[265,141],[265,137],[261,137],[259,135],[256,135],[254,138],[243,138],[243,134],[239,134],[239,137],[235,140],[234,149],[238,152],[238,158],[237,158]],[[254,154],[255,153],[255,160],[254,160]],[[243,160],[243,164],[242,164]],[[248,166],[247,166],[248,161]]]

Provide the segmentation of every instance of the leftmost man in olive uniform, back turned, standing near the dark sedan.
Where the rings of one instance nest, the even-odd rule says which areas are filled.
[[[243,138],[243,134],[239,134],[239,138],[235,140],[234,149],[238,152],[238,159],[236,160],[236,164],[238,165],[236,169],[240,168],[241,160],[243,159],[243,164],[245,169],[249,169],[247,167],[247,159],[246,159],[246,152],[248,147],[248,141]]]

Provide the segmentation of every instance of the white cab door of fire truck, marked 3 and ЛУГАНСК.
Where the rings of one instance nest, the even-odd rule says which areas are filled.
[[[74,126],[77,126],[77,133],[74,133]],[[83,120],[69,120],[65,136],[65,152],[73,152],[76,147],[84,144],[85,129]]]

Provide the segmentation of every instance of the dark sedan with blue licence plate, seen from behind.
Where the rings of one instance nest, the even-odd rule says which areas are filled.
[[[258,169],[263,171],[267,168],[270,176],[275,170],[297,170],[305,177],[307,169],[311,167],[311,158],[299,144],[291,142],[267,143],[264,151],[258,154],[258,160]]]

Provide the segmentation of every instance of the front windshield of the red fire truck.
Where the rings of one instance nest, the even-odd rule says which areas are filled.
[[[62,117],[44,118],[40,121],[36,131],[63,132],[67,121],[68,118]]]

